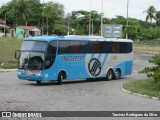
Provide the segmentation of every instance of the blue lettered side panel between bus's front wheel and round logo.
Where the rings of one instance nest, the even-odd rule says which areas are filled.
[[[65,54],[57,56],[57,74],[64,70],[67,73],[66,79],[84,79],[85,72],[85,54]]]

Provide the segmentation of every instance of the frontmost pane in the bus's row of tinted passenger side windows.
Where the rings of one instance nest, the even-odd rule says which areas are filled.
[[[58,53],[69,53],[69,41],[59,41],[58,43]]]

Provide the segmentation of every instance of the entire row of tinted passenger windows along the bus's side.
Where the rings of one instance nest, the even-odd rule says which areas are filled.
[[[53,43],[53,44],[55,44],[55,43]],[[130,53],[130,52],[132,52],[132,43],[131,42],[59,41],[59,44],[58,44],[58,53],[59,54]]]

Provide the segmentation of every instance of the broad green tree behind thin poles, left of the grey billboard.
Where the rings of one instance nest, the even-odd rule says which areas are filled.
[[[90,16],[91,15],[91,16]],[[97,11],[73,11],[72,12],[72,27],[75,28],[77,34],[88,35],[89,31],[89,19],[91,18],[90,30],[93,34],[99,34],[100,31],[100,19],[101,15]]]

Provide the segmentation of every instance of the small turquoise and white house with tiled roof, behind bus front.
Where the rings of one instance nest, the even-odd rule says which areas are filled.
[[[23,39],[25,37],[39,36],[41,34],[40,29],[35,26],[18,26],[16,27],[16,37]]]

